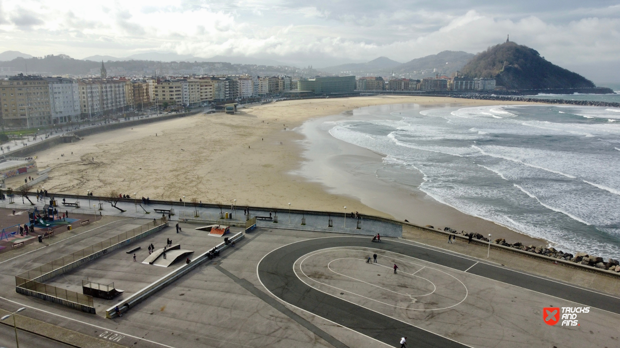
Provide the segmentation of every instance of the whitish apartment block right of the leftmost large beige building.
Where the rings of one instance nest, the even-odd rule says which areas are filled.
[[[51,123],[79,121],[78,81],[63,77],[44,77],[49,83]]]

